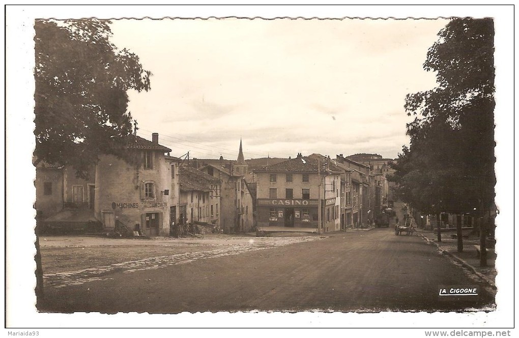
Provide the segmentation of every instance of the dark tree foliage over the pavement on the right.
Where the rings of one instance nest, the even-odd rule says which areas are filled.
[[[411,137],[393,180],[400,197],[424,212],[469,212],[494,205],[494,23],[453,19],[424,63],[438,87],[408,94]]]

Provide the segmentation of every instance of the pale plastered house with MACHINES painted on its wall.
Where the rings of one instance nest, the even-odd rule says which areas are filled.
[[[170,195],[172,166],[165,153],[171,149],[140,136],[129,136],[128,148],[135,163],[102,155],[95,173],[95,218],[111,231],[125,226],[148,236],[170,233],[170,207],[177,205]]]

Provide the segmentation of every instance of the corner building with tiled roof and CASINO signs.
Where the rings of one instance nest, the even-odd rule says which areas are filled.
[[[258,227],[301,227],[324,232],[340,229],[340,172],[332,171],[319,154],[255,170]],[[322,166],[322,171],[320,170]],[[320,172],[321,171],[321,172]]]

